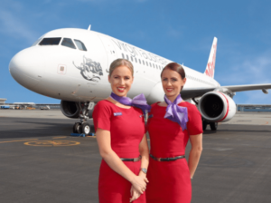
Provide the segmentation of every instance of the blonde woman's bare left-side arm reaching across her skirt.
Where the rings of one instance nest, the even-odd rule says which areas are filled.
[[[102,159],[107,162],[111,169],[131,182],[137,192],[143,194],[148,180],[145,177],[136,176],[135,173],[128,169],[124,162],[119,159],[115,151],[111,149],[110,131],[98,128],[96,137],[98,141],[98,150]]]

